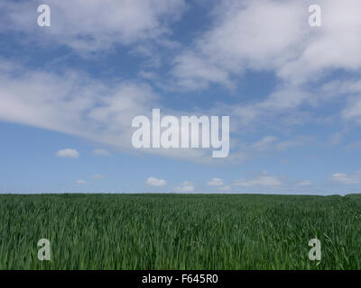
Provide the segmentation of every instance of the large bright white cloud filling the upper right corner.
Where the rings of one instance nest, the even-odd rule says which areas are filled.
[[[242,76],[247,69],[273,70],[280,79],[298,85],[325,71],[361,68],[360,2],[322,2],[319,28],[308,24],[310,4],[314,3],[221,2],[212,14],[212,27],[176,58],[173,75],[180,85],[194,89],[209,83],[229,85],[232,76]]]

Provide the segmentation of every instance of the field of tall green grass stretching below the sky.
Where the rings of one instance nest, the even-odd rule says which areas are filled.
[[[361,195],[0,195],[0,241],[0,269],[361,269]]]

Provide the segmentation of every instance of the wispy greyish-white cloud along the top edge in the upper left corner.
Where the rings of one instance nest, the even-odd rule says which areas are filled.
[[[39,29],[35,24],[39,4],[42,1],[2,1],[0,9],[6,11],[6,17],[0,21],[0,31],[21,31],[40,43],[57,42],[79,52],[92,52],[116,44],[162,40],[185,9],[183,0],[48,0],[51,27]]]

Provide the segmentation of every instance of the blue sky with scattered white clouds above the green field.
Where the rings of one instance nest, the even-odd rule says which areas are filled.
[[[360,16],[359,0],[2,0],[0,193],[359,193]],[[229,116],[229,155],[134,148],[153,109]]]

